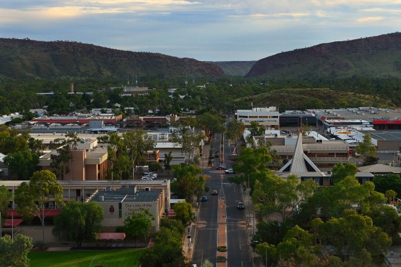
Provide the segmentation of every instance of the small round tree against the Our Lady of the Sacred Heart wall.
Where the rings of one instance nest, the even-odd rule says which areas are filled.
[[[128,237],[135,239],[135,246],[137,246],[137,238],[149,235],[153,220],[154,215],[148,209],[144,208],[133,212],[131,216],[124,220],[124,231]]]

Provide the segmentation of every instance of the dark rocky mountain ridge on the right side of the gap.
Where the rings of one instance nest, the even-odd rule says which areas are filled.
[[[247,77],[400,78],[401,33],[323,43],[258,60]]]

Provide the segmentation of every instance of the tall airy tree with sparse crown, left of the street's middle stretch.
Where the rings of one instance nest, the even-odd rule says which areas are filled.
[[[194,126],[187,124],[179,124],[172,132],[172,142],[179,146],[183,152],[189,157],[190,162],[194,161],[196,149],[200,146],[200,141],[205,135],[200,130],[196,130]]]

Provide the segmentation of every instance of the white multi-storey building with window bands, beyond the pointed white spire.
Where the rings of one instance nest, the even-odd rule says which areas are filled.
[[[236,111],[236,119],[242,121],[244,126],[251,126],[251,121],[257,121],[267,130],[279,130],[279,111],[275,106],[268,108],[252,108],[250,110]]]

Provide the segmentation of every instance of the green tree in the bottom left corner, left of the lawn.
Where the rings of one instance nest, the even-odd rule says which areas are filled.
[[[0,238],[0,266],[28,267],[28,253],[32,248],[32,238],[18,234],[11,238],[4,235]]]

